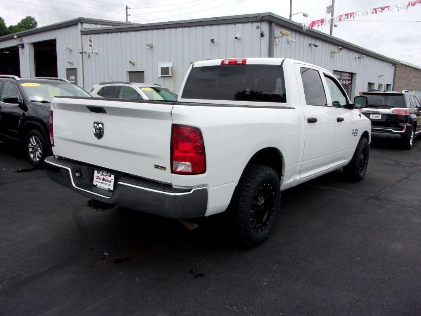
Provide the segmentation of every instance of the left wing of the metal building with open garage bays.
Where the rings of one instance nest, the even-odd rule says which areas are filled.
[[[72,79],[83,87],[80,31],[130,23],[78,18],[0,37],[0,74]]]

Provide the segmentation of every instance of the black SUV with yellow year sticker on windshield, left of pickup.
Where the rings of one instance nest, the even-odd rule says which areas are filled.
[[[24,142],[34,166],[51,153],[49,116],[54,96],[91,97],[64,79],[0,75],[0,140]]]

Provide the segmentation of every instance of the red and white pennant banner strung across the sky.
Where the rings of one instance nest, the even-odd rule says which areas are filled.
[[[313,29],[315,27],[321,27],[326,23],[336,24],[342,20],[355,19],[360,16],[368,16],[370,14],[377,14],[384,11],[408,10],[410,8],[415,7],[418,4],[421,4],[421,0],[408,1],[405,3],[398,3],[398,4],[392,4],[392,5],[385,5],[383,7],[366,9],[366,10],[361,10],[361,11],[354,11],[350,13],[341,14],[339,16],[333,16],[330,18],[320,19],[320,20],[311,21],[309,23],[305,23],[304,29]]]

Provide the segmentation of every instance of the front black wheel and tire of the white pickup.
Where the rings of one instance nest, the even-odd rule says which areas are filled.
[[[361,181],[367,171],[369,157],[370,144],[367,138],[361,137],[351,161],[344,166],[345,177],[350,181]]]

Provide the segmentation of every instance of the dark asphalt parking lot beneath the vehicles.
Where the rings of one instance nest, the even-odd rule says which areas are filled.
[[[335,171],[284,191],[248,250],[224,216],[191,232],[89,210],[0,143],[0,314],[420,315],[421,140],[398,140],[373,139],[362,182]]]

